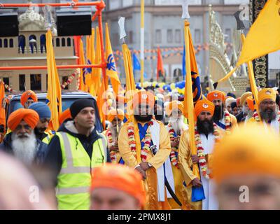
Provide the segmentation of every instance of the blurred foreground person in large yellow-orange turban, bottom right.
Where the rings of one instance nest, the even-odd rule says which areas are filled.
[[[213,176],[221,210],[280,209],[280,139],[246,124],[214,149]]]

